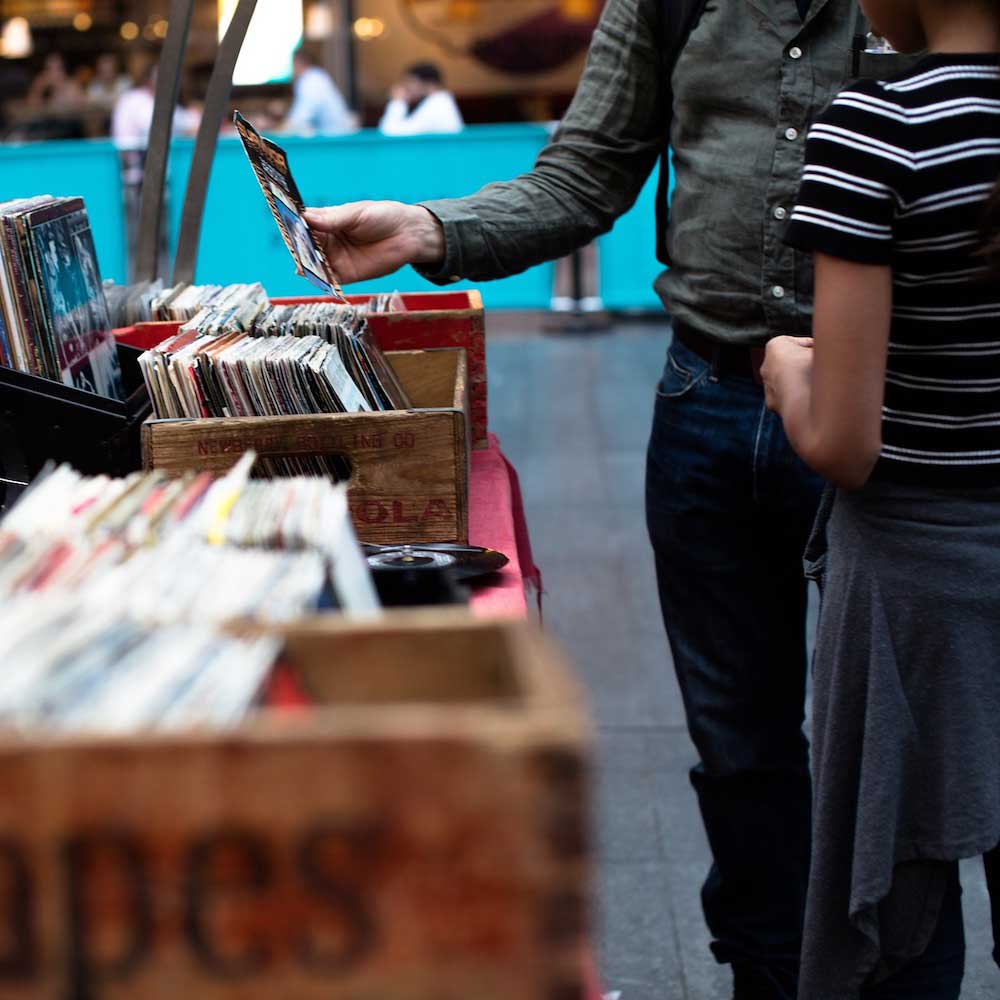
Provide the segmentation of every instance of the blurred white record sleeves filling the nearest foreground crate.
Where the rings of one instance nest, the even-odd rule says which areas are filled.
[[[223,623],[378,613],[346,491],[327,480],[42,477],[0,521],[0,726],[224,726],[279,647]]]

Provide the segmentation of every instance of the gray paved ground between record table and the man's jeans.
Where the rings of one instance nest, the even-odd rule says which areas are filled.
[[[728,1000],[699,889],[708,847],[695,762],[660,619],[643,516],[665,322],[540,335],[492,317],[490,420],[518,469],[547,627],[568,647],[599,727],[598,962],[622,1000]],[[1000,996],[978,863],[963,870],[962,1000]]]

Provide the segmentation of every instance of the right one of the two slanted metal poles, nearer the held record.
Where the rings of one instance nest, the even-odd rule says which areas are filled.
[[[184,195],[184,212],[181,216],[181,231],[177,240],[177,256],[174,259],[174,284],[194,281],[195,265],[198,262],[198,244],[201,241],[201,224],[205,212],[205,197],[212,175],[212,161],[219,141],[219,129],[229,110],[229,97],[233,90],[233,72],[243,48],[250,20],[257,6],[257,0],[239,0],[233,19],[226,29],[226,36],[219,46],[215,58],[215,68],[208,82],[205,95],[205,111],[198,127],[194,158],[188,174],[187,192]]]

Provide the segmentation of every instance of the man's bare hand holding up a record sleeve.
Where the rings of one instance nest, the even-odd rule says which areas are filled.
[[[440,267],[444,229],[419,205],[357,201],[306,209],[306,222],[346,285],[392,274],[406,264]]]

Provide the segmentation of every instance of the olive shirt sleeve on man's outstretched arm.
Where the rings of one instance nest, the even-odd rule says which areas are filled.
[[[424,202],[441,222],[440,284],[518,274],[607,232],[638,197],[666,140],[658,0],[608,0],[562,124],[534,169],[468,198]]]

